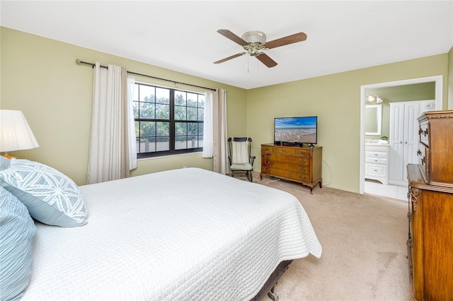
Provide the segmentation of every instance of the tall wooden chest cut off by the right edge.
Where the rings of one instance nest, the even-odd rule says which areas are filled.
[[[453,111],[425,112],[408,165],[412,300],[453,300]]]

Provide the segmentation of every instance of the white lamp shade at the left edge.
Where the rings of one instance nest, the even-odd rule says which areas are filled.
[[[0,110],[0,151],[19,151],[38,148],[33,132],[22,111]]]

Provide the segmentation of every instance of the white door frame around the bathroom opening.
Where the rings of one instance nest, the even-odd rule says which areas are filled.
[[[386,83],[372,83],[369,85],[360,85],[360,176],[359,176],[359,193],[365,192],[365,90],[395,87],[398,85],[413,85],[415,83],[435,82],[435,104],[436,110],[442,110],[442,93],[443,93],[444,76],[428,76],[423,78],[411,78],[403,81],[389,81]]]

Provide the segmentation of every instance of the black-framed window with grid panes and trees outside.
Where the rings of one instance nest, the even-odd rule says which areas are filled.
[[[205,95],[135,83],[137,158],[202,151]]]

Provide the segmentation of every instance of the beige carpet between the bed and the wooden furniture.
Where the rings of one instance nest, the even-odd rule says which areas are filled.
[[[297,196],[323,247],[292,262],[275,286],[280,301],[409,300],[408,203],[273,180],[253,182]],[[265,297],[264,300],[270,300]]]

